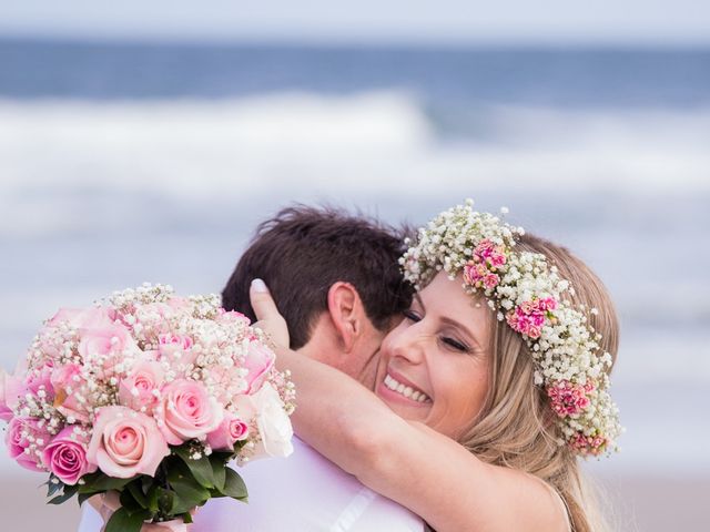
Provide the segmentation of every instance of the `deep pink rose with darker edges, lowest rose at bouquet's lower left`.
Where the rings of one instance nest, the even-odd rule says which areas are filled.
[[[88,438],[75,427],[67,427],[44,448],[44,466],[65,484],[75,484],[80,478],[97,470],[87,461]]]

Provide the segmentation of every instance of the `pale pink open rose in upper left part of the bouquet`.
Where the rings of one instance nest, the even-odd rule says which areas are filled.
[[[140,354],[131,331],[123,325],[111,324],[81,330],[79,355],[85,360],[100,361],[104,371],[113,371],[129,354]]]

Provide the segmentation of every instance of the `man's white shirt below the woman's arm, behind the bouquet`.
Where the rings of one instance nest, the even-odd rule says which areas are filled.
[[[197,510],[192,532],[423,532],[409,510],[363,485],[294,437],[294,453],[248,462],[239,473],[247,504],[213,499]],[[79,532],[98,532],[99,514],[84,504]]]

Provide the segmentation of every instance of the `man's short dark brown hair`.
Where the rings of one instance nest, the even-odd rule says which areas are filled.
[[[412,303],[397,262],[403,241],[404,231],[339,209],[284,208],[257,227],[222,290],[222,305],[255,320],[248,288],[252,279],[263,279],[288,324],[291,348],[298,349],[327,310],[328,289],[341,280],[355,287],[367,317],[385,330]]]

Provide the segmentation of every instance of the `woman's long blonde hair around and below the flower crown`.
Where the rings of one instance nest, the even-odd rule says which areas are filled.
[[[542,238],[525,235],[519,250],[540,253],[559,268],[575,294],[576,305],[588,309],[591,327],[602,335],[601,350],[616,361],[619,325],[616,309],[597,275],[568,249]],[[575,532],[608,530],[599,511],[596,493],[584,479],[577,458],[560,438],[555,413],[545,390],[534,386],[534,361],[523,337],[505,321],[493,319],[490,386],[473,427],[459,442],[487,463],[514,468],[534,474],[561,497]]]

